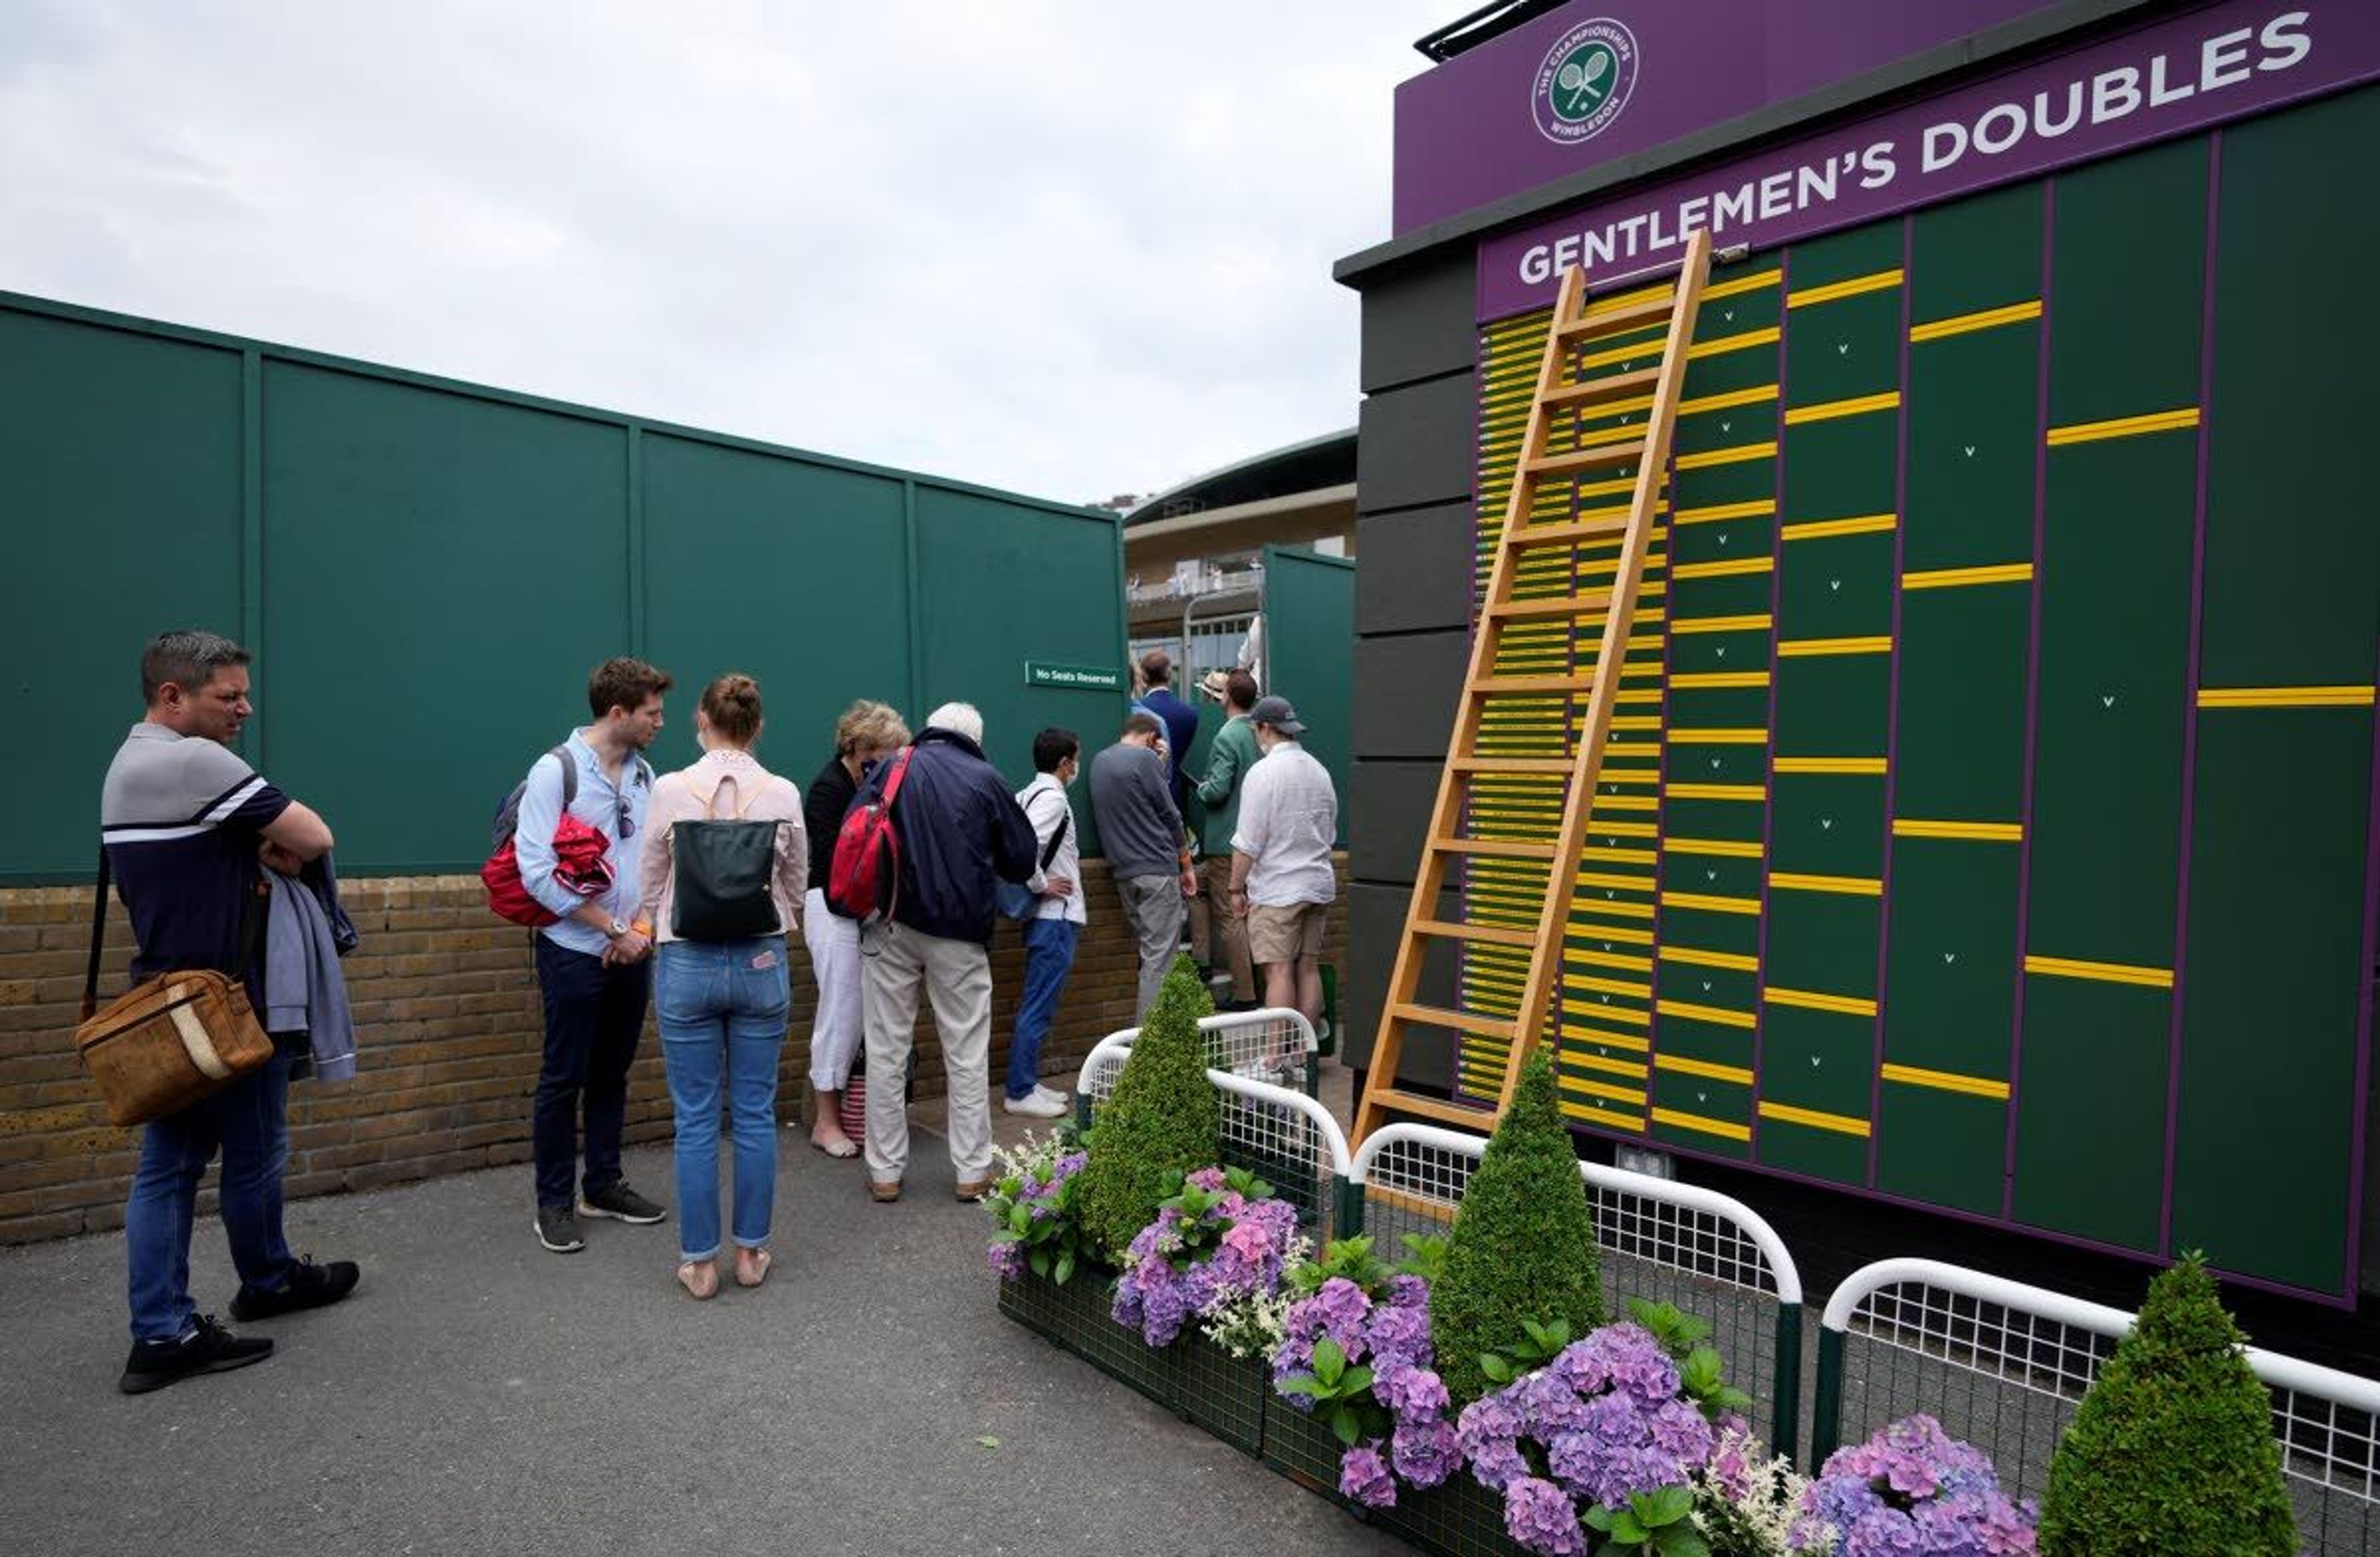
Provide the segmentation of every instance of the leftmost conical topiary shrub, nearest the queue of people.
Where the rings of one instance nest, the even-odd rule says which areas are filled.
[[[1157,1221],[1166,1174],[1190,1174],[1216,1162],[1221,1105],[1207,1081],[1207,1038],[1200,1017],[1214,998],[1188,957],[1176,959],[1140,1024],[1116,1090],[1092,1119],[1090,1162],[1076,1190],[1083,1226],[1109,1264]]]

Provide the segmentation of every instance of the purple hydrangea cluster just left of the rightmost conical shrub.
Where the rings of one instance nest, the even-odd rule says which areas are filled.
[[[1835,1450],[1802,1495],[1806,1528],[1833,1524],[1842,1557],[2033,1557],[2033,1502],[1999,1490],[1983,1450],[1933,1417],[1902,1417]]]

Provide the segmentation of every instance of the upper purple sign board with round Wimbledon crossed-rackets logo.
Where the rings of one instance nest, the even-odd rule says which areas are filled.
[[[2047,10],[2052,0],[1578,0],[1397,88],[1392,226]]]

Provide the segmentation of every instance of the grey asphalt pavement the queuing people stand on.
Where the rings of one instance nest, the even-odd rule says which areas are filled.
[[[114,1388],[121,1236],[0,1252],[0,1547],[1404,1550],[1002,1319],[938,1136],[900,1205],[795,1128],[781,1148],[776,1271],[712,1302],[671,1281],[666,1224],[538,1248],[526,1167],[290,1205],[290,1245],[359,1259],[357,1295],[238,1326],[276,1355],[143,1397]],[[666,1148],[628,1176],[666,1193]],[[202,1219],[193,1293],[231,1290]]]

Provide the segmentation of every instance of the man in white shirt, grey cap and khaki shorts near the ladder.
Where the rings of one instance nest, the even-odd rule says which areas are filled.
[[[1264,969],[1264,1005],[1297,1007],[1321,1026],[1323,917],[1338,898],[1338,790],[1297,743],[1307,726],[1288,698],[1257,698],[1247,719],[1264,757],[1240,783],[1230,898],[1247,919],[1247,952]]]

